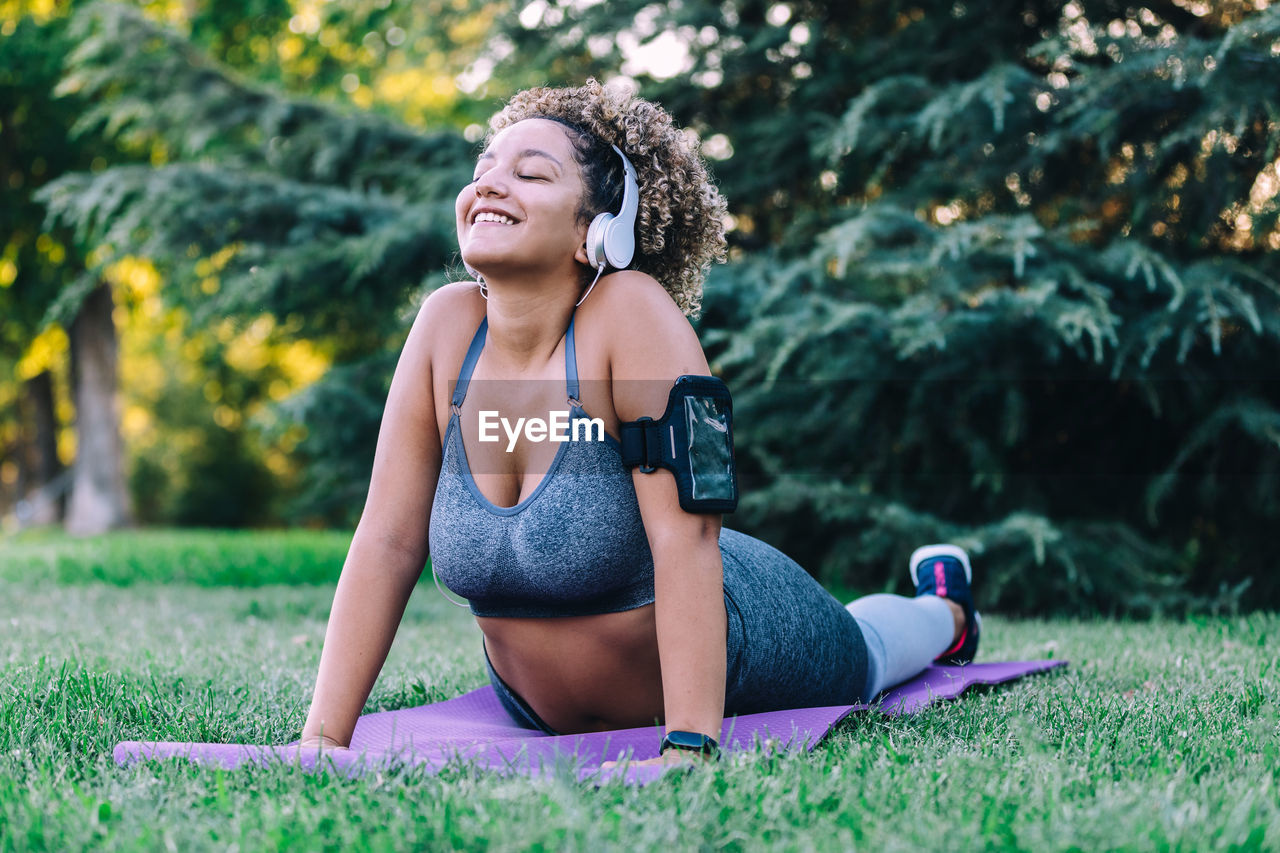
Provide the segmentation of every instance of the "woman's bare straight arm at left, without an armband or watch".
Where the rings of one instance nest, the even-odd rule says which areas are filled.
[[[347,745],[404,606],[428,558],[426,529],[440,473],[431,383],[438,291],[419,311],[401,352],[378,432],[369,497],[333,598],[305,745]],[[323,736],[323,740],[321,740]]]

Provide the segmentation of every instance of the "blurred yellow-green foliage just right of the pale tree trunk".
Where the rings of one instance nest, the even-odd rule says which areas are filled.
[[[270,315],[192,325],[164,304],[148,261],[122,259],[106,278],[119,295],[120,426],[138,520],[247,526],[280,517],[305,429],[264,442],[253,420],[324,375],[328,355]]]

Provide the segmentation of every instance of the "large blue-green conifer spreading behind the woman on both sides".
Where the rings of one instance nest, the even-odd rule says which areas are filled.
[[[479,102],[622,70],[716,160],[732,263],[701,325],[737,398],[733,524],[863,589],[950,539],[1002,608],[1229,603],[1251,579],[1280,601],[1252,570],[1280,556],[1280,10],[494,9]],[[398,311],[452,259],[462,137],[246,83],[127,9],[78,26],[84,127],[173,163],[64,178],[58,220],[155,257],[196,316],[265,307],[346,342],[296,403],[330,412],[310,452],[367,459]],[[653,45],[678,46],[668,68]]]

